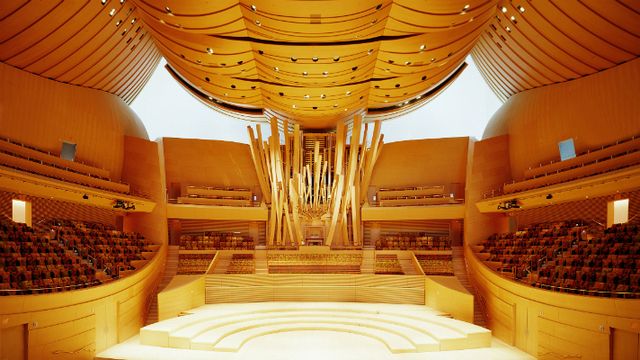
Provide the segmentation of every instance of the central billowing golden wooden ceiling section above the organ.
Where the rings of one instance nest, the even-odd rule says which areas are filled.
[[[496,9],[494,0],[132,1],[196,97],[307,128],[425,103],[464,68]]]

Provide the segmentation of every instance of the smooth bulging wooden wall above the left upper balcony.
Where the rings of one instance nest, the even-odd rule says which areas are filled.
[[[120,180],[124,135],[147,138],[138,116],[115,95],[52,81],[0,64],[0,136],[55,154],[76,143],[76,160]]]

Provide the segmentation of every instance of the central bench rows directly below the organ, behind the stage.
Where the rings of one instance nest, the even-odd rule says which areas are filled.
[[[270,274],[360,274],[362,253],[267,254]]]

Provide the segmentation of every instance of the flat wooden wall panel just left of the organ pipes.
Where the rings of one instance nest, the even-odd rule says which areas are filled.
[[[249,145],[229,141],[162,139],[167,185],[207,185],[251,189],[260,186]],[[171,194],[173,197],[175,194]]]

